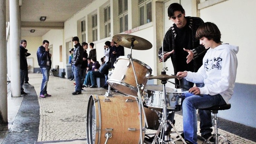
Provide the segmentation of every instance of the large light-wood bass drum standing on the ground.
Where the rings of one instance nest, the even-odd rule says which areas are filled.
[[[87,109],[87,143],[138,144],[140,140],[138,100],[130,96],[91,95]],[[144,115],[142,124],[145,127]],[[145,132],[143,132],[143,138]]]

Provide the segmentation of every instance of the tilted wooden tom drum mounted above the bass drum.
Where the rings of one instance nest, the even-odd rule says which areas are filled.
[[[137,76],[138,84],[146,85],[147,78],[152,73],[152,69],[143,62],[133,59],[134,69]],[[138,89],[135,80],[134,71],[130,59],[120,56],[115,62],[115,69],[111,74],[108,84],[126,95],[137,97]],[[143,92],[141,87],[141,92]]]

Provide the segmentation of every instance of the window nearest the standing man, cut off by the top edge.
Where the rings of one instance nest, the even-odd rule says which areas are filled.
[[[139,2],[139,25],[152,22],[152,1],[138,0]]]

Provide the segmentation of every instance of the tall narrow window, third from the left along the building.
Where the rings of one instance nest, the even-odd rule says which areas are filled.
[[[110,37],[110,6],[104,8],[104,29],[105,38]]]

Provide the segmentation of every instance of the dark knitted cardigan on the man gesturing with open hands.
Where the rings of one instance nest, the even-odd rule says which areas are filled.
[[[192,72],[196,72],[202,66],[203,57],[204,57],[204,55],[207,51],[204,48],[204,46],[199,44],[199,40],[195,38],[196,30],[203,23],[203,20],[201,18],[198,18],[198,17],[186,17],[186,18],[188,19],[187,22],[189,23],[189,28],[191,29],[191,32],[192,32],[191,33],[191,35],[192,35],[192,48],[190,48],[190,50],[194,54],[194,60],[192,60],[190,63],[193,63],[193,71]],[[175,24],[173,24],[171,26],[171,28],[166,32],[164,40],[163,40],[163,45],[164,45],[164,54],[166,52],[174,50],[174,53],[169,55],[169,57],[167,57],[165,59],[165,61],[168,58],[171,57],[173,68],[174,68],[174,75],[176,75],[177,72],[179,72],[177,69],[180,66],[178,65],[179,55],[176,55],[176,53],[175,53],[175,50],[177,48],[175,47],[176,32],[175,32],[175,29],[174,29],[174,25]],[[188,49],[188,48],[186,48],[186,49]],[[158,57],[159,57],[159,59],[162,58],[162,47],[158,51]],[[179,81],[177,79],[175,79],[175,83],[179,84]]]

